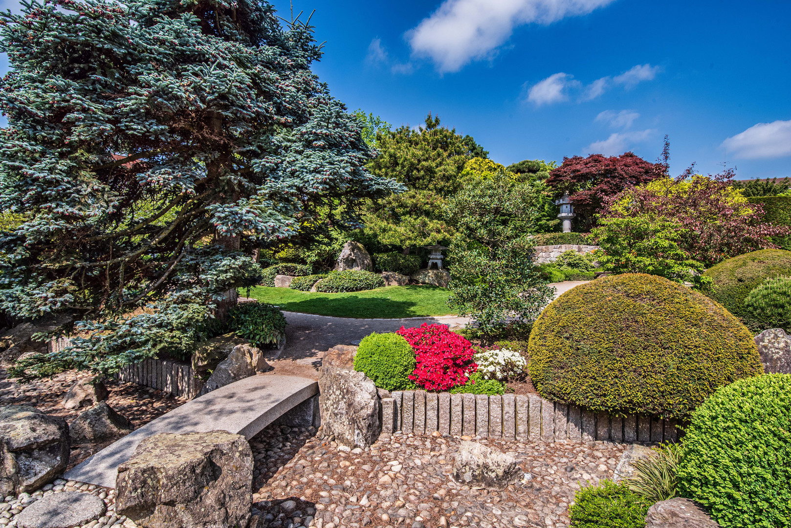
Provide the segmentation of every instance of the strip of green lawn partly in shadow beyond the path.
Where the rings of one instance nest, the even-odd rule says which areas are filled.
[[[245,293],[240,289],[240,295]],[[448,289],[435,286],[388,286],[345,294],[256,286],[250,290],[250,297],[289,312],[335,317],[400,318],[457,313],[445,304]]]

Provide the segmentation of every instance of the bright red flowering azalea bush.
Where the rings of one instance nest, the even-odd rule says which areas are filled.
[[[469,374],[478,370],[472,361],[472,344],[447,325],[427,325],[420,328],[399,329],[407,343],[414,348],[415,367],[409,377],[426,390],[448,390],[467,383]]]

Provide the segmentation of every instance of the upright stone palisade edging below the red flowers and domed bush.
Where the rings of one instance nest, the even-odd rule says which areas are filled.
[[[528,442],[587,442],[611,440],[619,443],[676,442],[676,420],[656,416],[611,416],[531,395],[426,393],[423,390],[395,391],[383,397],[382,434],[395,431]]]

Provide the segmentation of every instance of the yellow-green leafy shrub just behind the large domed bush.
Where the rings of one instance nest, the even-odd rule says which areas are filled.
[[[679,248],[687,230],[665,218],[641,215],[629,218],[600,218],[591,231],[601,246],[596,260],[615,273],[649,273],[676,282],[702,287],[710,279],[701,276],[703,264]]]

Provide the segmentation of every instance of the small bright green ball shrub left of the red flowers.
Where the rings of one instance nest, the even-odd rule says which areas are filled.
[[[388,390],[414,389],[409,375],[415,366],[414,350],[395,333],[363,337],[354,355],[354,370],[365,373],[377,387]]]

